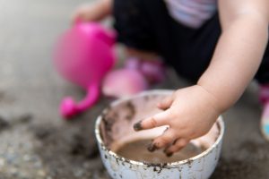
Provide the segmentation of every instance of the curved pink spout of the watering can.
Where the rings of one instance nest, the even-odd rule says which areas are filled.
[[[60,106],[60,113],[65,119],[70,119],[79,115],[86,109],[92,107],[100,97],[100,85],[91,84],[87,90],[87,95],[82,101],[75,103],[71,97],[63,99]]]

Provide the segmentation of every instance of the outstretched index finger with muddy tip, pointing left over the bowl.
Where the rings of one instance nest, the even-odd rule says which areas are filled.
[[[160,127],[162,125],[167,125],[169,119],[169,111],[161,112],[157,115],[153,115],[143,121],[134,124],[134,131],[140,131],[144,129],[152,129],[154,127]]]

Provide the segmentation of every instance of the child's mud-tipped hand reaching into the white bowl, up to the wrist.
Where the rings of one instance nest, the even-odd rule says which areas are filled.
[[[185,147],[190,140],[209,132],[220,115],[216,99],[199,85],[177,90],[158,107],[164,111],[134,124],[134,130],[169,125],[169,129],[152,141],[148,148],[150,151],[164,148],[167,156]]]

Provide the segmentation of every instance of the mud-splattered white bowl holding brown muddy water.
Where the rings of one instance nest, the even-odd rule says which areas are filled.
[[[201,178],[212,173],[221,152],[224,125],[219,119],[210,132],[191,141],[171,158],[162,151],[149,153],[146,146],[161,135],[167,126],[134,132],[141,119],[161,112],[156,103],[171,91],[154,90],[128,99],[119,99],[108,107],[96,122],[100,156],[112,178]],[[202,150],[202,149],[205,149]]]

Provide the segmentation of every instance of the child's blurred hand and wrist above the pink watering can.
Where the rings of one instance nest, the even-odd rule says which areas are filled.
[[[97,0],[91,4],[83,4],[78,7],[73,16],[72,22],[78,19],[82,21],[100,21],[107,17],[112,11],[112,0]]]

